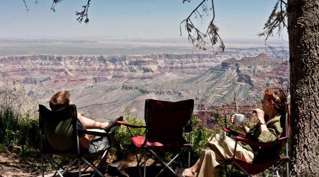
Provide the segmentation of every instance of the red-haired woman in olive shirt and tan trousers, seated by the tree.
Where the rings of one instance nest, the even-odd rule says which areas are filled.
[[[257,114],[258,123],[251,129],[244,125],[239,128],[246,133],[246,138],[260,142],[271,142],[278,140],[283,132],[281,121],[285,118],[286,94],[279,88],[269,88],[264,91],[262,99],[262,110],[253,109]],[[282,118],[281,118],[282,117]],[[234,124],[234,115],[230,118]],[[259,151],[257,146],[239,142],[236,148],[236,158],[251,163]],[[176,168],[178,176],[185,177],[217,177],[220,166],[234,154],[235,141],[228,136],[214,134],[204,144],[200,158],[194,166],[186,169]]]

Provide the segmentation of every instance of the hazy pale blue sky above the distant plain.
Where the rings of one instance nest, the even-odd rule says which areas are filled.
[[[65,0],[50,10],[52,0],[2,1],[0,37],[172,36],[179,37],[180,23],[201,0],[92,0],[89,24],[79,24],[75,11],[85,0]],[[215,0],[215,24],[221,37],[258,38],[277,0]],[[211,1],[207,1],[208,6]],[[212,11],[210,12],[212,14]],[[206,18],[206,17],[205,17]],[[212,15],[204,21],[207,27]],[[194,19],[195,21],[195,19]],[[284,35],[287,36],[285,33]],[[182,26],[182,36],[187,33]],[[278,37],[276,37],[278,38]]]

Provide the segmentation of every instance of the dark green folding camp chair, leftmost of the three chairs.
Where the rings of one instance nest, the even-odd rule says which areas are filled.
[[[75,105],[68,105],[56,111],[51,111],[45,106],[39,105],[38,111],[40,133],[46,137],[46,140],[44,140],[43,136],[41,135],[41,165],[43,177],[44,159],[48,161],[48,163],[55,169],[56,173],[58,173],[61,177],[63,177],[65,173],[69,173],[68,170],[76,162],[78,162],[78,176],[81,176],[81,160],[88,164],[83,172],[85,172],[88,167],[91,167],[94,170],[92,176],[95,173],[98,173],[100,176],[105,177],[104,174],[100,172],[98,167],[100,166],[102,159],[105,158],[107,149],[110,146],[106,146],[103,150],[92,154],[81,152],[78,135],[79,133],[84,133],[88,135],[108,137],[109,145],[113,145],[115,144],[114,133],[78,129],[77,109]],[[53,157],[50,156],[50,154],[53,154],[53,156],[62,156],[64,159],[62,160],[61,164],[59,164],[53,159]],[[95,159],[99,158],[101,154],[103,154],[102,158],[99,164],[95,166],[93,162]],[[72,159],[73,161],[64,169],[62,163],[66,158]],[[62,173],[59,171],[60,169],[63,170]]]

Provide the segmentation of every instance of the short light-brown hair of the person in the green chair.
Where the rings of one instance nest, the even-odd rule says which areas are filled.
[[[61,107],[67,106],[70,103],[70,93],[67,90],[63,90],[54,94],[50,99],[50,108],[55,111]]]

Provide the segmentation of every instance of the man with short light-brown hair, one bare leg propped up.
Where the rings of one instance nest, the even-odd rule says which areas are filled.
[[[71,105],[72,100],[70,99],[70,93],[69,91],[60,91],[54,94],[50,99],[50,108],[52,111],[58,110],[61,107]],[[121,124],[118,124],[116,121],[123,121],[123,117],[119,117],[113,121],[110,122],[97,122],[92,119],[86,118],[84,116],[81,116],[81,114],[78,113],[78,129],[104,129],[106,132],[109,132],[112,127],[121,126]],[[79,144],[81,151],[87,152],[87,153],[94,153],[96,151],[99,151],[100,149],[103,149],[105,146],[108,146],[108,138],[104,137],[100,141],[93,142],[90,140],[89,135],[87,134],[79,134]],[[102,173],[105,172],[105,163],[106,158],[103,159],[101,162],[99,169]],[[111,164],[111,166],[119,166],[119,162],[116,164]]]

